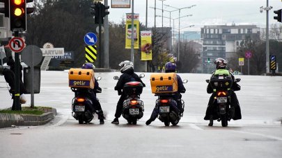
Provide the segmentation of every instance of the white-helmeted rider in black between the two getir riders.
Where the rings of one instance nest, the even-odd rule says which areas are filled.
[[[116,87],[115,87],[115,90],[118,91],[118,95],[121,95],[120,99],[118,100],[118,104],[116,105],[115,119],[113,119],[113,121],[111,122],[116,125],[118,125],[119,123],[118,118],[123,112],[123,101],[126,99],[126,95],[122,91],[125,83],[131,81],[138,81],[142,83],[143,87],[145,87],[145,84],[142,82],[139,76],[136,73],[134,73],[133,62],[130,62],[129,60],[125,60],[124,62],[120,62],[120,64],[118,65],[121,67],[120,72],[123,74],[118,79],[118,82],[116,83]]]

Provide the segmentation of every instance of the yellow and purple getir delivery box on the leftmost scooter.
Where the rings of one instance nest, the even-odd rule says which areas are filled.
[[[95,76],[93,69],[70,69],[68,71],[68,86],[73,88],[94,89]]]

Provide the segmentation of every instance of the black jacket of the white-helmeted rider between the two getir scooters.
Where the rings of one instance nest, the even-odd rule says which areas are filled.
[[[139,76],[134,73],[133,69],[128,69],[123,72],[123,74],[120,76],[118,79],[118,82],[116,83],[115,90],[116,91],[121,91],[123,89],[123,86],[125,85],[126,82],[131,82],[131,81],[138,81],[143,84],[143,87],[146,85],[142,82],[142,80],[139,78]]]

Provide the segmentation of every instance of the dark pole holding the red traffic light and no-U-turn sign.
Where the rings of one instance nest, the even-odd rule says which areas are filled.
[[[15,37],[19,37],[19,31],[14,31]],[[15,92],[14,92],[14,108],[15,110],[22,110],[19,104],[19,53],[15,53]]]

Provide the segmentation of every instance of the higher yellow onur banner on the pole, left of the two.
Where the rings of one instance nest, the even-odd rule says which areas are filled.
[[[139,49],[139,14],[134,14],[134,49]],[[126,14],[125,49],[131,49],[132,15]]]

